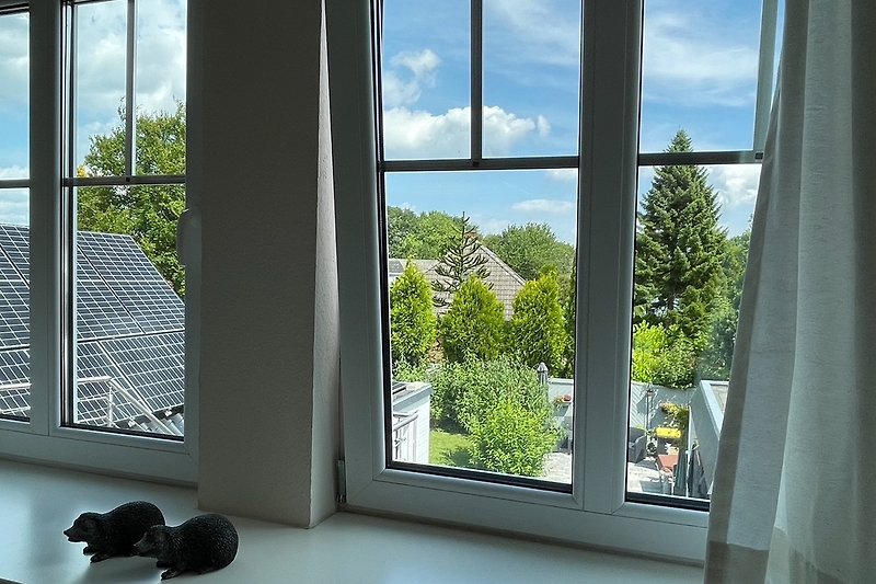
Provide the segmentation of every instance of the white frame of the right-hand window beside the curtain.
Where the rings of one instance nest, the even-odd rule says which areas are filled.
[[[334,168],[343,169],[335,197],[347,504],[702,562],[706,512],[630,502],[625,493],[637,172],[664,160],[638,152],[642,0],[590,0],[583,9],[576,307],[583,374],[574,433],[584,439],[576,440],[570,493],[388,468],[371,11],[369,0],[326,0]],[[773,31],[774,14],[773,8]],[[769,57],[759,89],[768,98]],[[765,107],[756,113],[751,151],[670,163],[753,162],[768,115]],[[473,157],[479,141],[472,137]]]

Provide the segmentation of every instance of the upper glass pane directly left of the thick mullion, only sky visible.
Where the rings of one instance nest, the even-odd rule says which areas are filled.
[[[580,2],[484,2],[484,156],[578,153]]]

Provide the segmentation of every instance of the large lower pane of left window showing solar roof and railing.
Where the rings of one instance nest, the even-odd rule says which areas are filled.
[[[182,185],[77,191],[74,424],[182,436]]]

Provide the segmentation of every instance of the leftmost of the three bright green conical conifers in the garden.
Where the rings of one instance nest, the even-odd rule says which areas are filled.
[[[408,262],[390,288],[390,346],[393,362],[420,363],[435,343],[436,334],[431,287],[426,276]]]

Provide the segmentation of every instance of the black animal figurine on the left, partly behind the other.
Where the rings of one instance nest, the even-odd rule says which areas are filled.
[[[164,515],[147,501],[131,501],[107,513],[83,513],[64,535],[68,541],[84,541],[82,553],[92,562],[113,557],[136,556],[134,545],[153,525],[164,525]]]

